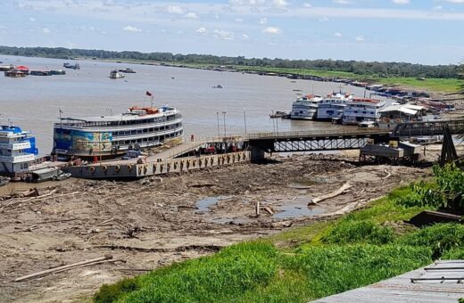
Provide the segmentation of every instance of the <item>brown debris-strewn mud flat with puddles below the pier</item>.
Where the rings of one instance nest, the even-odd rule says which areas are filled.
[[[37,197],[6,195],[0,199],[1,300],[88,299],[103,283],[340,216],[430,175],[430,168],[358,167],[355,158],[313,154],[131,182],[72,180],[43,186]],[[308,207],[347,182],[352,187],[344,194]],[[14,282],[105,255],[112,262]]]

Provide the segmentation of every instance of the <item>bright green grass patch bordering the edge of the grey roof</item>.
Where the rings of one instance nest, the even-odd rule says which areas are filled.
[[[308,277],[316,299],[425,266],[430,254],[427,247],[398,244],[329,245],[305,250],[293,259],[293,266]]]

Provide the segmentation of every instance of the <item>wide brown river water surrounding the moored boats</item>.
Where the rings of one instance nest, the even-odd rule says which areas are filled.
[[[26,65],[29,70],[63,69],[65,60],[0,55],[3,64]],[[68,61],[73,64],[75,61]],[[291,80],[239,72],[220,72],[101,61],[79,61],[80,70],[66,75],[7,78],[0,75],[0,119],[32,131],[41,155],[53,144],[53,125],[63,117],[117,114],[132,105],[170,104],[184,116],[185,138],[251,132],[326,129],[330,123],[269,119],[272,111],[290,111],[296,94],[342,91],[364,95],[364,89],[333,82]],[[111,79],[113,69],[137,73]],[[213,88],[213,86],[223,88]],[[369,91],[367,92],[369,94]],[[225,112],[225,114],[223,113]],[[225,121],[224,121],[225,119]],[[224,123],[225,122],[225,123]],[[225,127],[224,127],[225,125]],[[226,128],[226,129],[224,129]]]

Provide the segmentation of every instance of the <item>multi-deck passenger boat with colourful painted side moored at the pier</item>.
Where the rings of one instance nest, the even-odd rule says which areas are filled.
[[[113,158],[180,140],[184,133],[182,115],[168,105],[133,106],[115,116],[60,119],[54,124],[52,154],[66,158]]]

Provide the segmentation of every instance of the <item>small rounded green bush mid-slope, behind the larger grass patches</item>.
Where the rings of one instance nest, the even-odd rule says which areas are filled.
[[[393,240],[394,232],[391,228],[377,225],[370,220],[342,220],[322,238],[322,242],[326,243],[385,244]]]

